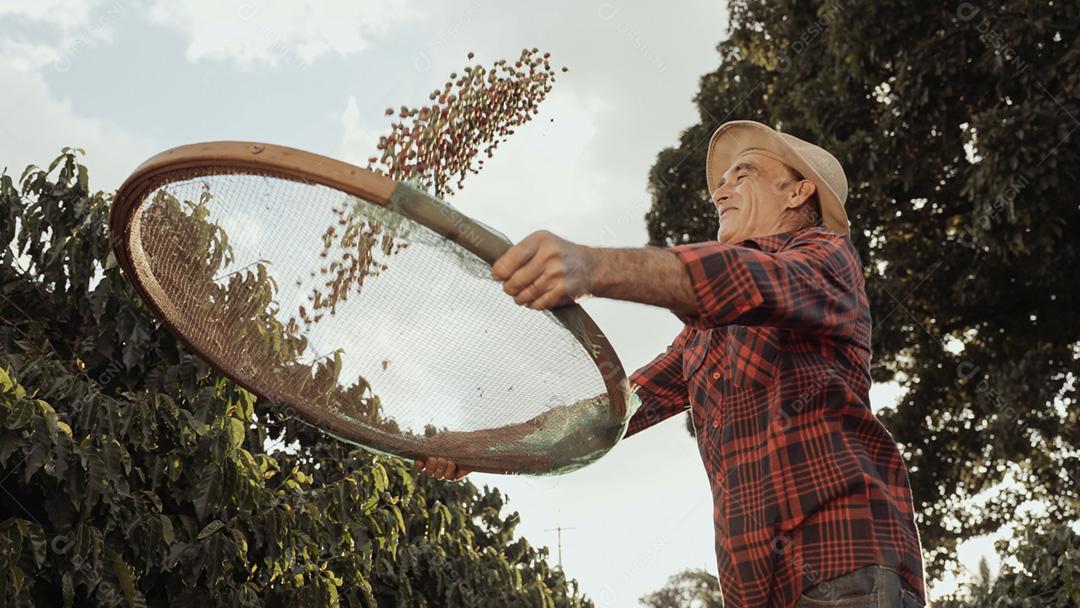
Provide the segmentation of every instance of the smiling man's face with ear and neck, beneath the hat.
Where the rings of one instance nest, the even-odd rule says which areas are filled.
[[[799,181],[784,163],[756,152],[741,154],[713,192],[713,204],[719,215],[716,240],[738,243],[788,230],[792,211],[813,191],[813,183]]]

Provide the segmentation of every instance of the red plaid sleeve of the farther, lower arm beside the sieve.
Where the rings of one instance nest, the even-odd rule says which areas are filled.
[[[683,350],[690,329],[684,327],[667,350],[630,375],[631,388],[642,401],[630,418],[626,438],[686,410],[690,405],[683,380]]]

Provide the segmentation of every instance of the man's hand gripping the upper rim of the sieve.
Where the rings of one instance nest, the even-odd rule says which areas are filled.
[[[591,295],[593,264],[589,247],[540,230],[507,249],[491,276],[517,303],[542,310]]]

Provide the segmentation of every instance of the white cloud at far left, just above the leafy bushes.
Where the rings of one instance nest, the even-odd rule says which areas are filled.
[[[0,95],[0,167],[16,178],[28,164],[48,165],[65,146],[84,148],[91,188],[114,190],[153,149],[117,125],[80,116],[53,98],[44,79],[0,64],[0,81],[17,95]]]

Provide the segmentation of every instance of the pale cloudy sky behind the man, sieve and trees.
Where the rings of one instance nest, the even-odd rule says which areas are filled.
[[[453,199],[519,240],[548,229],[596,246],[647,234],[656,156],[698,122],[699,78],[716,68],[724,2],[414,0],[0,0],[0,168],[18,175],[83,148],[92,187],[113,190],[171,147],[239,139],[365,164],[387,107],[421,106],[465,65],[552,53],[540,114]],[[467,62],[467,53],[476,57]],[[717,125],[718,126],[718,125]],[[627,370],[678,333],[670,312],[584,302]],[[897,397],[876,386],[875,410]],[[518,531],[600,607],[637,606],[686,568],[716,573],[711,492],[685,415],[557,477],[473,474],[522,514]],[[972,571],[991,539],[961,545]],[[931,597],[953,589],[951,580]]]

